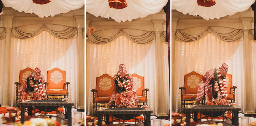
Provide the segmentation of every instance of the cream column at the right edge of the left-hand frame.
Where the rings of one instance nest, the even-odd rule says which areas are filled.
[[[85,43],[83,42],[83,28],[85,16],[74,15],[78,36],[78,83],[77,83],[77,108],[85,109]]]

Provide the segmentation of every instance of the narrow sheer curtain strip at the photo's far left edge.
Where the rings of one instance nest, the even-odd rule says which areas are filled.
[[[3,104],[3,93],[4,91],[2,90],[3,88],[3,69],[4,69],[4,50],[5,50],[5,42],[6,42],[6,39],[1,39],[0,40],[0,103],[1,103],[1,106]]]

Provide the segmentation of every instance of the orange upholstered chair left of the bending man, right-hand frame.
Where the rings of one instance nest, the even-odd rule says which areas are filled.
[[[198,74],[197,72],[190,72],[189,74],[184,75],[184,86],[179,87],[181,89],[181,112],[183,109],[183,105],[192,105],[194,103],[186,103],[186,101],[194,101],[197,97],[197,89],[199,82],[201,81],[203,75]],[[184,92],[183,92],[184,90]],[[205,104],[205,95],[203,96],[202,101],[200,102],[201,105]]]

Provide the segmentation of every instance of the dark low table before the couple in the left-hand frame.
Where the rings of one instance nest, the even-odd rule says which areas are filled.
[[[47,110],[55,110],[56,109],[56,114],[58,114],[58,107],[62,107],[62,106],[65,106],[67,108],[67,111],[66,111],[66,115],[67,115],[67,119],[68,119],[68,126],[71,126],[72,125],[72,120],[71,120],[71,107],[74,106],[74,103],[71,102],[71,101],[62,101],[62,100],[30,100],[30,101],[24,101],[24,102],[20,102],[19,103],[20,106],[21,106],[21,119],[20,119],[20,122],[21,123],[24,123],[24,109],[25,109],[25,106],[28,106],[29,107],[29,112],[28,112],[28,115],[32,115],[31,112],[32,112],[32,107],[31,106],[34,106],[34,112],[36,112],[36,109],[39,109],[40,111],[45,111],[45,114],[44,115],[37,115],[34,114],[34,116],[32,116],[31,118],[34,118],[34,117],[38,117],[38,116],[52,116],[52,115],[47,115],[46,112]],[[40,112],[40,111],[37,111],[37,112]],[[54,116],[56,118],[59,118],[57,116]],[[62,118],[60,118],[62,119]],[[64,119],[62,119],[64,120]]]

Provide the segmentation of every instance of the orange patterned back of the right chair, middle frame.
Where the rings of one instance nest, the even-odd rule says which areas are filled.
[[[136,90],[138,96],[145,96],[144,86],[144,77],[141,77],[137,74],[132,74],[133,77],[133,88]]]

